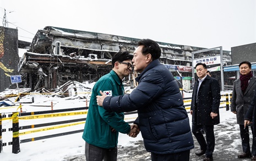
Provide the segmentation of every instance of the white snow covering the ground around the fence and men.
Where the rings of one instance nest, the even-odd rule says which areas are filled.
[[[226,92],[222,92],[226,93]],[[186,97],[191,97],[191,93],[186,93]],[[51,110],[51,102],[53,109],[85,107],[85,99],[65,100],[64,98],[47,97],[43,95],[34,95],[35,102],[32,104],[23,104],[23,112],[36,112],[41,110]],[[88,103],[89,104],[89,103]],[[19,105],[19,104],[18,104]],[[1,113],[8,114],[17,111],[15,107],[0,107]],[[20,109],[18,109],[19,111]],[[85,111],[85,110],[83,110]],[[191,115],[189,119],[191,119]],[[50,122],[61,120],[72,120],[85,118],[86,115],[72,115],[51,118]],[[126,121],[134,120],[137,114],[126,115]],[[226,108],[220,108],[221,124],[215,126],[216,146],[214,152],[215,160],[236,160],[237,153],[242,152],[241,139],[239,136],[239,127],[236,124],[236,115]],[[19,120],[19,126],[48,123],[48,119]],[[8,131],[12,127],[12,121],[3,120],[3,129],[7,129],[2,133],[3,142],[7,142],[7,146],[3,147],[0,153],[0,161],[28,161],[28,160],[85,160],[84,157],[84,140],[81,138],[82,132],[72,135],[65,135],[53,138],[46,138],[38,141],[20,143],[20,152],[12,153],[12,146],[8,142],[12,141],[12,131]],[[43,127],[37,127],[42,129]],[[19,139],[58,134],[67,131],[84,129],[84,123],[57,128],[54,130],[46,130],[42,132],[32,132],[27,135],[20,135]],[[36,128],[34,129],[36,130]],[[25,130],[31,131],[31,129]],[[22,131],[20,131],[22,132]],[[201,160],[202,157],[195,156],[195,151],[199,150],[199,145],[195,140],[195,148],[190,151],[190,160]],[[143,146],[143,138],[139,134],[136,138],[119,134],[118,142],[118,160],[143,161],[151,160],[150,153],[145,151]],[[239,159],[248,160],[248,159]]]

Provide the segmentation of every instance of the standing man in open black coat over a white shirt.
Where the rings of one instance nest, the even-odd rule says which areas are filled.
[[[197,138],[201,151],[195,153],[198,156],[205,154],[204,161],[213,160],[215,147],[214,125],[220,123],[220,85],[219,82],[206,74],[206,64],[198,63],[195,65],[197,76],[192,94],[192,132]],[[204,135],[201,128],[204,128]]]

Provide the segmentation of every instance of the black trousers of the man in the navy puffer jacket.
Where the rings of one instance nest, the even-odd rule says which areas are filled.
[[[189,161],[190,150],[173,154],[151,153],[152,161]]]

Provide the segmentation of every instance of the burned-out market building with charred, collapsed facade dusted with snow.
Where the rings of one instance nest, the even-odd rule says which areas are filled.
[[[56,88],[70,80],[92,82],[112,69],[111,58],[115,53],[120,50],[133,53],[138,41],[137,38],[46,26],[37,31],[30,50],[19,61],[18,71],[23,76],[24,87],[32,89]],[[191,76],[192,52],[204,48],[157,43],[162,50],[161,63],[187,66],[179,69],[188,69],[181,73]],[[229,57],[229,52],[224,51],[224,55]]]

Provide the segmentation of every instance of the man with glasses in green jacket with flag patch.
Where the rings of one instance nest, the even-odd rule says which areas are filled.
[[[137,125],[124,121],[122,112],[108,112],[97,106],[96,96],[104,91],[107,96],[124,95],[122,80],[132,72],[133,55],[118,52],[112,58],[112,70],[102,76],[94,85],[91,93],[89,110],[84,127],[86,161],[117,160],[118,132],[137,136]]]

